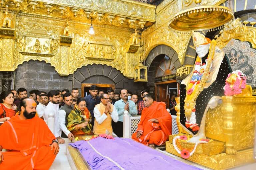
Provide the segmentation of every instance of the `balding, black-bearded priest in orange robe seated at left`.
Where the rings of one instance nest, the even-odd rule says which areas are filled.
[[[20,114],[0,127],[1,170],[47,170],[59,152],[55,136],[36,115],[36,102],[24,99]],[[5,148],[6,152],[1,152]]]

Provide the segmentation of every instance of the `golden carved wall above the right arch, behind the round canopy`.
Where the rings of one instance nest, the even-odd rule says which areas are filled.
[[[202,0],[201,4],[220,4],[223,0]],[[190,32],[178,33],[168,28],[171,18],[179,11],[195,6],[193,0],[164,0],[156,8],[156,23],[142,32],[141,56],[145,60],[149,52],[157,45],[172,47],[184,64],[185,54],[191,38]]]

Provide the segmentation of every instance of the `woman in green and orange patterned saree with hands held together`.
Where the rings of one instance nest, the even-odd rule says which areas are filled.
[[[93,134],[91,122],[92,116],[86,108],[85,99],[78,98],[77,104],[74,106],[74,110],[72,110],[68,115],[68,130],[74,135]]]

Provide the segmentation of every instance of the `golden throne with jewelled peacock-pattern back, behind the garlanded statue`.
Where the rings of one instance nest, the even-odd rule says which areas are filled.
[[[244,24],[249,22],[244,22]],[[248,71],[256,68],[256,28],[245,26],[237,19],[226,26],[216,39],[217,45],[229,58],[232,71]],[[235,60],[234,60],[235,59]],[[255,60],[255,61],[254,61]],[[239,63],[241,61],[241,63]],[[238,67],[241,68],[238,68]],[[252,70],[254,70],[252,68]],[[205,134],[209,143],[199,144],[188,160],[216,170],[228,169],[245,163],[254,162],[253,147],[255,140],[256,115],[256,70],[249,72],[247,85],[242,94],[222,96],[222,104],[209,109],[206,115]],[[254,78],[255,77],[255,78]],[[249,83],[248,83],[249,81]],[[251,86],[252,87],[251,87]],[[175,136],[186,134],[180,123],[180,98],[176,98],[177,125],[179,134],[170,135],[166,151],[177,156],[172,140]],[[193,150],[195,143],[182,140],[176,142],[178,148]]]

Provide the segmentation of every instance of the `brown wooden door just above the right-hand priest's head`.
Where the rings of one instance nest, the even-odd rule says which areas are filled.
[[[156,86],[157,86],[156,88],[157,102],[164,102],[166,104],[166,107],[169,108],[168,84],[159,84]]]

